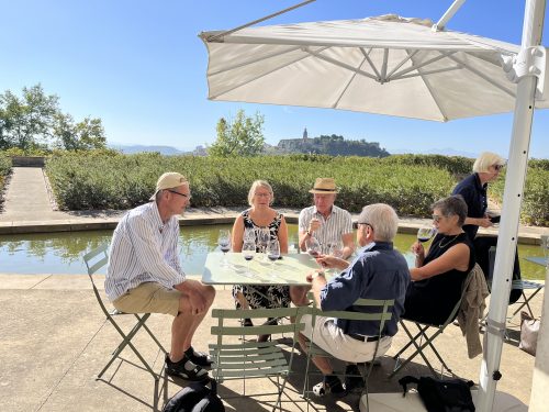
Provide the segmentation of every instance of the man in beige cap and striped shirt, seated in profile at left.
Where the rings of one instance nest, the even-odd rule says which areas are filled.
[[[189,380],[204,380],[208,355],[195,352],[192,336],[212,305],[215,290],[187,279],[178,256],[179,221],[189,204],[187,179],[166,172],[156,183],[150,202],[127,212],[111,243],[105,292],[125,313],[166,313],[171,324],[171,349],[166,371]]]

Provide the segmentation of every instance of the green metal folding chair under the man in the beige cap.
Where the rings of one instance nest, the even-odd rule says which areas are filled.
[[[91,280],[91,286],[93,287],[93,293],[96,293],[96,298],[98,300],[98,303],[101,307],[101,310],[103,311],[104,315],[107,316],[105,322],[107,321],[111,322],[111,324],[114,326],[116,332],[119,332],[119,334],[122,336],[122,342],[114,349],[114,352],[112,353],[111,359],[107,363],[104,368],[98,374],[97,379],[101,379],[103,374],[107,371],[107,369],[109,369],[109,367],[113,364],[113,361],[116,360],[116,358],[122,359],[120,357],[120,354],[122,353],[122,350],[126,346],[128,346],[134,352],[135,356],[137,356],[137,358],[142,361],[145,369],[150,374],[150,376],[153,376],[153,378],[155,379],[155,385],[158,385],[160,377],[157,374],[155,374],[153,368],[149,366],[149,364],[145,360],[145,358],[142,356],[142,354],[139,354],[139,352],[136,349],[136,347],[132,343],[132,338],[136,335],[136,333],[141,329],[144,329],[150,335],[153,341],[155,341],[155,343],[158,345],[159,349],[164,354],[166,354],[166,349],[164,348],[164,346],[160,344],[160,342],[158,342],[158,339],[155,337],[153,332],[150,332],[150,330],[147,327],[147,325],[145,325],[145,322],[150,316],[150,313],[144,313],[144,314],[124,313],[124,312],[117,311],[116,309],[109,311],[103,302],[101,293],[99,292],[99,290],[96,286],[94,280],[93,280],[93,275],[99,269],[101,269],[104,265],[107,265],[107,263],[109,261],[108,249],[109,249],[109,245],[107,245],[107,244],[101,245],[98,248],[89,252],[88,254],[86,254],[83,256],[83,261],[86,263],[86,267],[88,268],[88,276]],[[120,327],[120,325],[116,323],[114,318],[119,316],[119,315],[132,315],[132,314],[135,316],[137,322],[135,323],[135,325],[132,327],[132,330],[130,332],[125,333],[122,330],[122,327]]]

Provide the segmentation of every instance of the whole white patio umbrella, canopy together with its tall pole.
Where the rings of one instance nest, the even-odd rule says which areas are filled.
[[[211,100],[442,122],[515,111],[480,411],[492,410],[498,379],[533,111],[549,107],[542,97],[547,54],[542,47],[535,48],[541,41],[544,14],[545,0],[527,0],[522,46],[434,31],[428,21],[396,15],[200,34],[209,52]],[[516,73],[516,82],[506,71]]]

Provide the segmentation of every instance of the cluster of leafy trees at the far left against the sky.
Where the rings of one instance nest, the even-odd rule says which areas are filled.
[[[105,143],[100,119],[75,124],[70,114],[60,112],[59,98],[46,96],[40,83],[23,88],[21,98],[10,90],[0,93],[0,149],[90,149],[104,148]]]

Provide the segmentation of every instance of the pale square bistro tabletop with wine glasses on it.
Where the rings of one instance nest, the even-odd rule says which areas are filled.
[[[224,265],[223,261],[226,264]],[[249,264],[249,265],[248,265]],[[239,253],[208,254],[202,282],[205,285],[309,285],[305,277],[320,266],[307,254],[282,255],[276,261],[256,254],[249,263]]]

